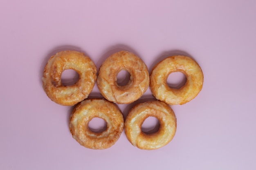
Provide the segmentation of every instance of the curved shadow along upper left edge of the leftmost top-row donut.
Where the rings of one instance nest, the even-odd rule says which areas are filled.
[[[43,81],[42,81],[42,77],[43,77],[43,72],[45,69],[45,66],[48,62],[48,60],[50,59],[50,57],[52,57],[53,55],[55,55],[56,53],[60,52],[60,51],[65,51],[65,50],[74,50],[74,51],[79,51],[81,53],[84,53],[85,55],[89,56],[85,51],[83,51],[80,47],[77,46],[72,46],[72,45],[63,45],[63,46],[56,46],[55,48],[53,48],[52,50],[49,50],[47,55],[45,56],[45,58],[42,60],[41,62],[41,66],[40,66],[40,70],[39,70],[39,82],[40,84],[43,86]]]

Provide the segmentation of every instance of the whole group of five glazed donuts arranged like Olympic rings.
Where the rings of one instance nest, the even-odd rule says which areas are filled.
[[[79,80],[71,86],[63,86],[61,75],[66,69],[79,74]],[[117,75],[125,70],[130,81],[125,86],[117,84]],[[186,83],[179,89],[170,88],[168,76],[181,72]],[[110,55],[99,68],[92,60],[78,51],[61,51],[48,60],[43,73],[43,89],[49,99],[63,106],[74,106],[70,115],[70,132],[81,145],[90,149],[110,148],[123,130],[133,146],[154,150],[167,145],[174,137],[177,119],[170,105],[185,104],[195,98],[202,89],[202,69],[191,57],[175,55],[155,65],[151,74],[146,64],[129,51]],[[97,82],[102,99],[87,99]],[[150,87],[156,101],[137,104],[126,120],[117,104],[130,104],[139,99]],[[106,121],[103,132],[94,132],[89,122],[98,117]],[[148,117],[158,119],[157,132],[146,134],[141,126]]]

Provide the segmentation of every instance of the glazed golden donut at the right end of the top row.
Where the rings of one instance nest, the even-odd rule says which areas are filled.
[[[170,88],[168,76],[181,72],[186,76],[186,84],[179,89]],[[183,55],[167,57],[153,68],[150,74],[150,90],[156,99],[166,104],[185,104],[195,98],[204,82],[202,69],[195,60]]]

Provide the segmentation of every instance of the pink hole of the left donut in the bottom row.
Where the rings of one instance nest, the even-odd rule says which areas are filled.
[[[92,132],[100,133],[107,129],[107,122],[99,117],[94,117],[88,124]]]

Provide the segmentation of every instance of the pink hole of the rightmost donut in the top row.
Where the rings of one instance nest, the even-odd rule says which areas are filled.
[[[167,85],[170,88],[179,89],[186,84],[186,75],[181,72],[173,72],[167,78]]]

